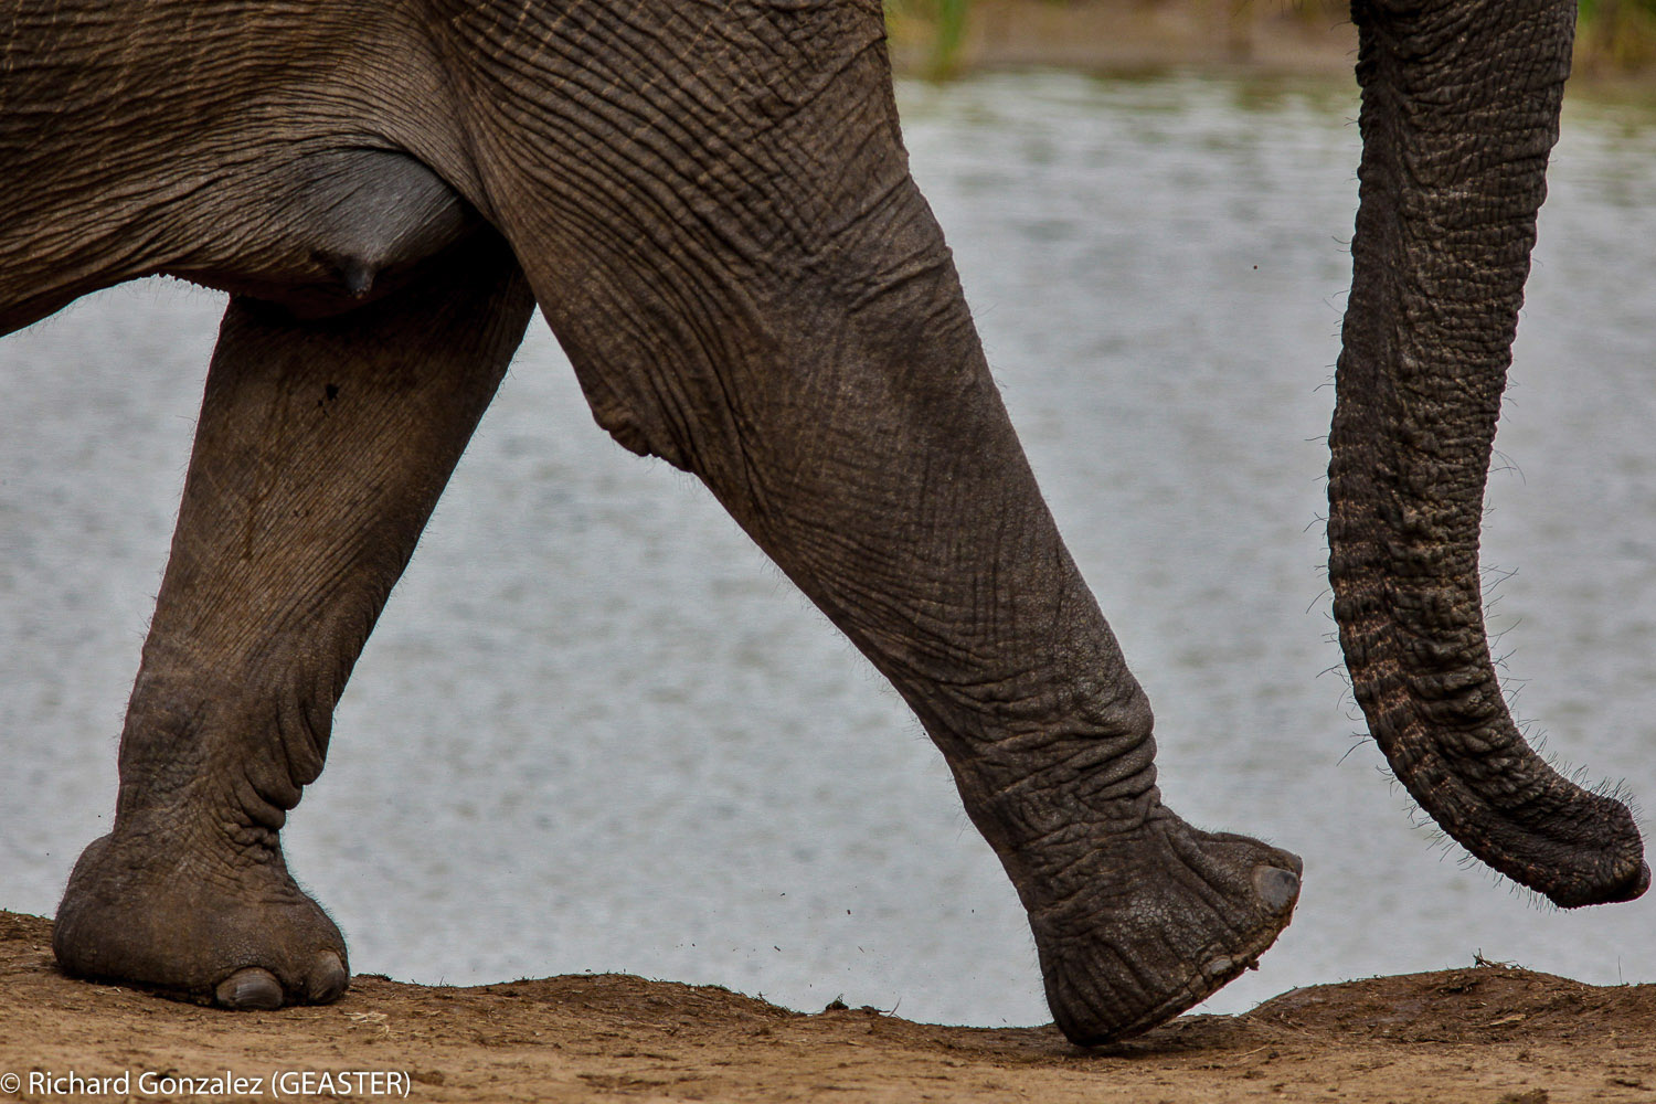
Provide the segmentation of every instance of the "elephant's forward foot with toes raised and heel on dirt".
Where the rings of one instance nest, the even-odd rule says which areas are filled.
[[[1300,895],[1297,856],[1159,806],[1103,841],[1048,842],[1047,892],[1025,902],[1047,1003],[1081,1046],[1148,1031],[1254,968]]]

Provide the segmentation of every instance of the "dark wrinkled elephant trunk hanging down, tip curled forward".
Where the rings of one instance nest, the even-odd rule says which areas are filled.
[[[1356,700],[1467,851],[1553,902],[1649,884],[1628,809],[1525,745],[1490,664],[1479,521],[1573,0],[1356,0],[1361,204],[1330,435],[1330,578]]]

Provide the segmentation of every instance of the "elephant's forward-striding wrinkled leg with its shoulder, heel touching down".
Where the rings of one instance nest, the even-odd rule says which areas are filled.
[[[599,424],[700,477],[914,708],[1063,1031],[1143,1031],[1247,968],[1298,859],[1161,803],[1149,705],[907,175],[879,3],[462,5],[449,30],[480,46],[493,223]]]

